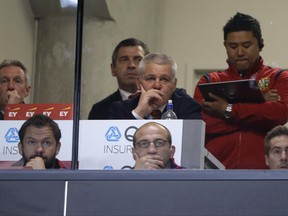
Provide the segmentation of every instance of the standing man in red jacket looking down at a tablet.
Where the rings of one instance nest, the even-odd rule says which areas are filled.
[[[265,169],[264,137],[288,119],[288,73],[263,64],[264,43],[255,18],[237,13],[223,30],[229,67],[201,77],[198,84],[255,79],[265,102],[232,104],[213,94],[213,101],[205,101],[196,87],[194,98],[206,122],[205,146],[226,169]]]

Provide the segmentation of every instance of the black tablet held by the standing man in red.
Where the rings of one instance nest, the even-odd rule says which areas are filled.
[[[265,99],[254,79],[234,80],[227,82],[212,82],[198,84],[198,87],[207,101],[209,92],[225,98],[228,103],[262,103]]]

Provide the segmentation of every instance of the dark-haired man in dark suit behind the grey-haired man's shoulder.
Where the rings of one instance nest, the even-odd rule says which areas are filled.
[[[108,111],[113,102],[126,100],[129,95],[137,92],[138,64],[148,53],[146,44],[135,38],[125,39],[115,47],[111,73],[117,78],[119,88],[108,97],[95,103],[88,119],[108,119]]]

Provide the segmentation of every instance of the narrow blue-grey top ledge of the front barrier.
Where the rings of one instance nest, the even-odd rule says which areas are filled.
[[[0,170],[0,181],[281,181],[286,170]]]

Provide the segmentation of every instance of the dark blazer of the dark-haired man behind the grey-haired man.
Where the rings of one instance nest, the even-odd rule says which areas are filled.
[[[116,101],[122,101],[119,89],[103,100],[95,103],[90,110],[88,119],[108,119],[111,104]]]

